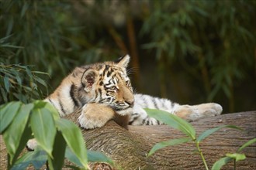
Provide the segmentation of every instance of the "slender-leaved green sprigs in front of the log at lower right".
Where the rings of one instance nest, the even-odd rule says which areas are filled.
[[[195,128],[192,127],[191,124],[188,122],[184,121],[182,118],[175,116],[174,114],[170,114],[166,111],[163,110],[154,110],[154,109],[145,109],[147,111],[147,114],[150,117],[154,117],[158,121],[162,121],[164,124],[167,124],[168,126],[175,128],[179,131],[182,131],[184,134],[187,135],[187,138],[179,138],[179,139],[172,139],[170,141],[162,141],[154,145],[153,148],[151,148],[150,152],[148,153],[147,156],[150,156],[154,154],[155,151],[158,149],[167,147],[167,146],[172,146],[172,145],[180,145],[185,142],[192,141],[195,143],[197,151],[199,155],[202,158],[202,162],[205,165],[206,169],[208,168],[208,165],[206,163],[206,160],[202,154],[202,150],[199,147],[200,142],[209,137],[210,134],[213,134],[214,132],[220,130],[220,128],[234,128],[234,129],[240,129],[237,128],[234,125],[223,125],[220,127],[216,128],[211,128],[207,131],[202,132],[198,137],[195,135]],[[247,141],[243,146],[241,146],[237,151],[241,151],[243,148],[247,147],[248,145],[251,145],[256,142],[256,138],[251,139],[250,141]],[[236,167],[236,162],[240,160],[244,160],[246,156],[244,154],[240,153],[233,153],[233,154],[227,154],[226,157],[220,158],[217,162],[213,164],[212,170],[219,170],[223,165],[226,165],[228,162],[234,160],[234,167]]]

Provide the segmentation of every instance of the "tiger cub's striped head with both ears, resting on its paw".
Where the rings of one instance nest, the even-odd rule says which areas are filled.
[[[85,70],[81,83],[88,102],[106,104],[122,116],[133,112],[133,88],[126,73],[130,56],[117,62],[95,63]]]

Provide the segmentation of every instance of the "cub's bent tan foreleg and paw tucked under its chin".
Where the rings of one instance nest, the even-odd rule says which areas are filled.
[[[115,111],[104,104],[85,104],[78,117],[78,123],[85,129],[101,128],[114,115]]]

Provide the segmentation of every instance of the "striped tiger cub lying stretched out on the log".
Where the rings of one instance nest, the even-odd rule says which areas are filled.
[[[180,105],[168,99],[134,94],[126,73],[129,61],[130,56],[126,55],[117,62],[77,67],[45,101],[52,104],[61,117],[82,108],[78,123],[85,129],[100,128],[112,119],[124,128],[127,124],[162,124],[148,117],[144,108],[166,110],[188,121],[222,112],[220,104]]]

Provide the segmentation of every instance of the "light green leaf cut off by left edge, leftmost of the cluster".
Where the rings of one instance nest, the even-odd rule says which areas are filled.
[[[14,101],[0,107],[0,134],[2,134],[3,131],[5,131],[5,128],[12,122],[21,105],[22,103],[20,101]]]

